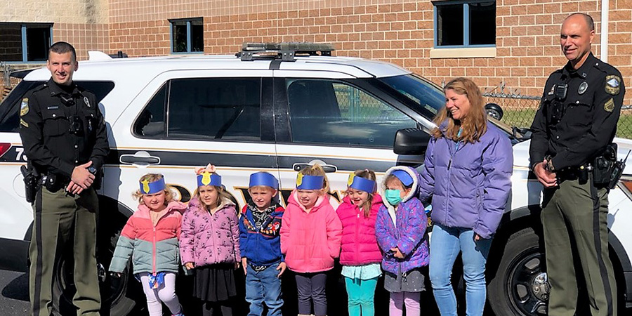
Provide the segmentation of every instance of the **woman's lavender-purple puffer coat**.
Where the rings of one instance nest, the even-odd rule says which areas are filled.
[[[480,237],[491,238],[506,208],[512,172],[511,142],[488,121],[478,142],[461,143],[458,150],[454,140],[430,140],[419,199],[433,198],[434,222],[471,228]]]

